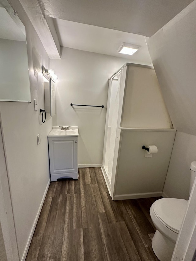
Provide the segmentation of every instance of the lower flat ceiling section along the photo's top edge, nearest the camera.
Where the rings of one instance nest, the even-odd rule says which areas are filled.
[[[150,37],[193,0],[37,1],[46,16]]]

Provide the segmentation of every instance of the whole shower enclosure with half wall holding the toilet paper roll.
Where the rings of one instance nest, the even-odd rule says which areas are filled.
[[[112,199],[161,196],[175,138],[155,71],[125,64],[109,79],[102,171]],[[146,158],[143,145],[158,153]]]

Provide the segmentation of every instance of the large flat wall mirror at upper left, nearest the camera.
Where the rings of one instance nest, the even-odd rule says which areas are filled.
[[[25,26],[0,0],[0,101],[31,102]]]

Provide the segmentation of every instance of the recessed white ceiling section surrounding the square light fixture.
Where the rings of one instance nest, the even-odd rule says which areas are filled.
[[[133,63],[151,64],[145,41],[148,37],[61,19],[53,21],[61,46],[127,58]],[[133,55],[119,54],[117,49],[123,42],[137,44],[141,48]]]

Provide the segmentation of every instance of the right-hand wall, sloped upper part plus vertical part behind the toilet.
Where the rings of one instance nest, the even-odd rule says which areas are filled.
[[[170,197],[185,199],[188,198],[190,162],[196,160],[196,136],[192,136],[196,135],[195,17],[196,1],[193,1],[148,43],[171,121],[177,129],[164,192]]]

